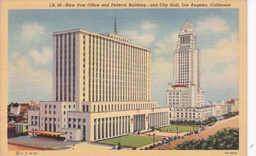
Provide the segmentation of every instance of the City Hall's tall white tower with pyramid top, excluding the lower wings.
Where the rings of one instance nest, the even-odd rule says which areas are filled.
[[[204,92],[201,88],[200,50],[197,36],[186,20],[178,34],[177,49],[174,51],[174,85],[189,87],[189,106],[203,105]]]

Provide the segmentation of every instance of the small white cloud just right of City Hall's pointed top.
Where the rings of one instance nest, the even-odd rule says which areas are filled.
[[[198,20],[196,22],[197,28],[196,32],[207,33],[213,32],[223,32],[228,29],[227,22],[220,17],[207,17],[203,20]]]

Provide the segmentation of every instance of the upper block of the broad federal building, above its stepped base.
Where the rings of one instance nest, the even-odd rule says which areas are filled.
[[[53,33],[53,99],[150,101],[151,49],[111,33]]]

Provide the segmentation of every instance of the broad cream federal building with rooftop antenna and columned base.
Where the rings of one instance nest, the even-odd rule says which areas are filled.
[[[97,141],[168,125],[151,100],[151,49],[114,33],[53,33],[53,101],[28,111],[29,135]]]

